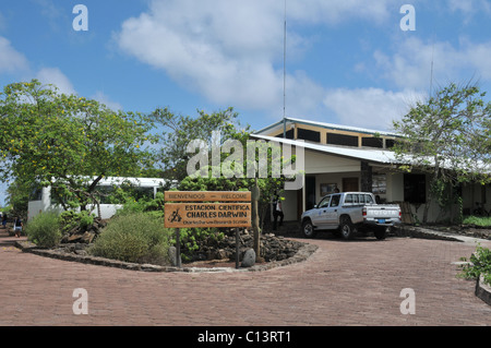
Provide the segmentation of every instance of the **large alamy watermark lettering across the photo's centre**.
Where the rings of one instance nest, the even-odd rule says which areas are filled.
[[[297,140],[296,143],[301,145],[303,141]],[[285,182],[285,190],[300,190],[303,187],[302,173],[306,167],[303,146],[287,142],[280,145],[274,141],[248,140],[246,147],[244,152],[242,143],[238,140],[227,140],[221,144],[218,131],[213,132],[211,144],[203,140],[193,140],[187,146],[188,153],[195,154],[188,161],[188,176],[202,178],[223,176],[228,179],[284,176],[290,180]],[[229,156],[221,160],[221,154]]]

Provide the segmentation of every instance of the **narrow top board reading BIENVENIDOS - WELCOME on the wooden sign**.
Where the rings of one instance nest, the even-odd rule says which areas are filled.
[[[250,191],[166,191],[166,202],[251,202]]]

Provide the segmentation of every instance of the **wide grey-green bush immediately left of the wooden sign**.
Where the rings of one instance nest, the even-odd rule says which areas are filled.
[[[133,213],[113,217],[88,252],[95,256],[134,263],[167,265],[172,231],[151,214]]]

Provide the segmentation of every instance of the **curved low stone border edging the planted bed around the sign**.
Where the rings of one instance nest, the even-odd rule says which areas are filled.
[[[259,272],[267,271],[275,267],[291,265],[294,263],[306,261],[310,255],[312,255],[316,250],[318,245],[304,243],[297,253],[282,261],[273,261],[264,265],[256,265],[248,268],[232,268],[232,267],[175,267],[175,266],[158,266],[152,264],[139,264],[130,263],[118,260],[110,260],[105,257],[88,256],[88,255],[77,255],[73,253],[57,252],[53,250],[38,248],[28,241],[16,241],[15,247],[21,249],[23,252],[29,252],[36,255],[58,259],[62,261],[81,262],[85,264],[99,265],[106,267],[123,268],[129,271],[143,271],[143,272],[184,272],[184,273],[216,273],[216,272]]]

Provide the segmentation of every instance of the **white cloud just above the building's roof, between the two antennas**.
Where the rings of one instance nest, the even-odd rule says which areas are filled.
[[[381,88],[331,89],[324,105],[340,124],[390,130],[424,95],[414,91],[391,92]]]

